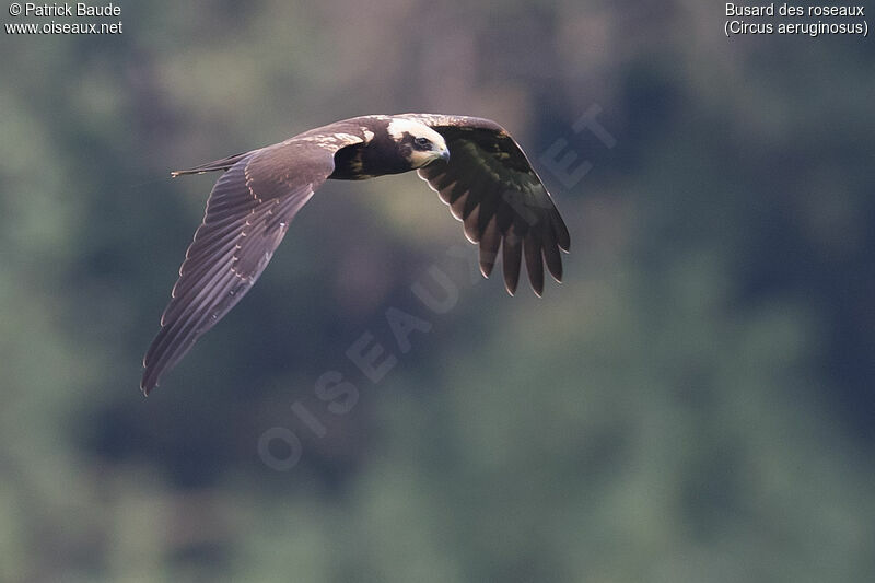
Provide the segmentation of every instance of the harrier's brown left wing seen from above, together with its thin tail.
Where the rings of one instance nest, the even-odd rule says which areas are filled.
[[[230,168],[212,188],[161,330],[143,359],[140,386],[147,395],[249,291],[295,213],[334,171],[334,153],[354,141],[360,140],[349,135],[292,139],[225,159]],[[223,162],[177,174],[222,170]]]

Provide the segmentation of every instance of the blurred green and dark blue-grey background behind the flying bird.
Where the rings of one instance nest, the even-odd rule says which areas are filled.
[[[121,8],[0,38],[0,581],[875,581],[871,40],[727,39],[692,0]],[[215,178],[168,171],[401,112],[515,135],[565,282],[469,279],[413,175],[329,183],[144,399]],[[432,325],[407,353],[389,308]]]

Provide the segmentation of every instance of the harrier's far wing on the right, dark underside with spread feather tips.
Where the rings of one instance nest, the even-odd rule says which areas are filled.
[[[544,292],[544,263],[562,280],[562,258],[571,237],[549,193],[513,138],[489,119],[406,114],[438,131],[450,162],[435,161],[419,175],[465,223],[465,235],[480,244],[480,271],[489,277],[502,248],[504,285],[513,294],[526,259],[532,288]]]

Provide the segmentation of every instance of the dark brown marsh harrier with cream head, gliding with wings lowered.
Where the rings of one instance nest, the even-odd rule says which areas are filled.
[[[289,223],[327,179],[362,180],[416,170],[465,235],[480,244],[489,277],[501,247],[513,295],[525,257],[532,288],[544,291],[544,264],[562,279],[568,228],[513,138],[489,119],[434,114],[371,115],[336,121],[283,142],[171,173],[224,171],[186,252],[161,330],[143,358],[145,395],[197,339],[246,294]]]

